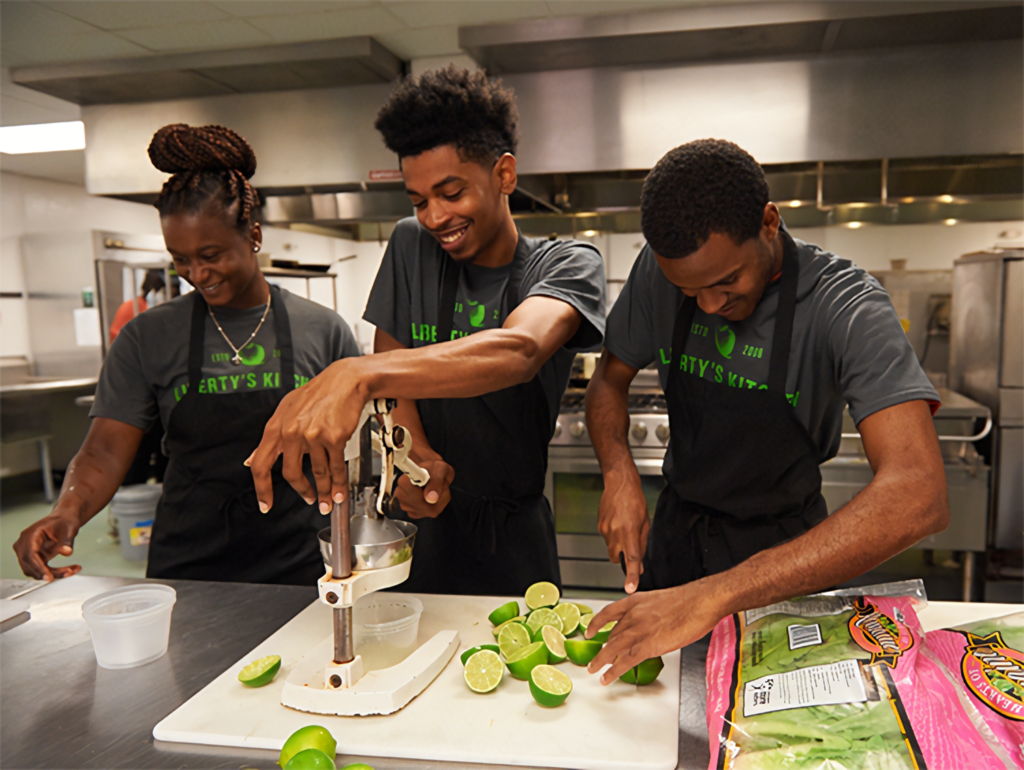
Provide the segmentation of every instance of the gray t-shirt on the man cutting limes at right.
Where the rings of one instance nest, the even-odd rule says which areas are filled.
[[[818,461],[824,462],[839,451],[844,404],[859,424],[888,407],[915,399],[938,402],[939,396],[881,285],[848,259],[802,241],[796,244],[800,277],[786,396],[818,447]],[[663,388],[682,299],[645,245],[608,315],[608,350],[631,367],[656,365]],[[774,282],[743,320],[728,322],[696,308],[686,339],[684,376],[722,387],[762,387],[777,307]]]

